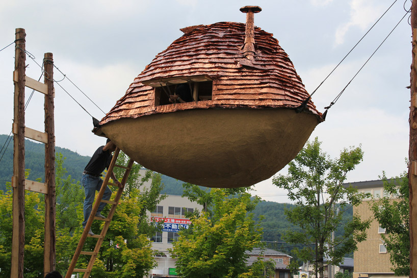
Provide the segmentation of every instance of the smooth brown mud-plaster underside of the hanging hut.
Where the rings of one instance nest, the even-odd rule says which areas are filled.
[[[101,130],[142,166],[206,187],[251,186],[288,164],[318,124],[291,109],[202,109],[124,118]]]

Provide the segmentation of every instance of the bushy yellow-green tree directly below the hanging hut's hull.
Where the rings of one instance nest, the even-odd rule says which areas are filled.
[[[194,191],[190,188],[193,188]],[[260,245],[262,231],[252,219],[259,201],[244,192],[246,189],[217,189],[203,193],[188,185],[188,193],[208,204],[206,211],[195,211],[189,229],[179,232],[171,253],[177,258],[176,269],[181,277],[257,277],[264,273],[262,260],[248,267],[246,251]],[[237,193],[230,195],[229,193]],[[262,270],[262,271],[261,271]]]

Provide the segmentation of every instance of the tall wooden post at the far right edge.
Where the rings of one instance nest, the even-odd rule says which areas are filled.
[[[411,105],[410,105],[410,145],[408,159],[408,186],[410,202],[410,278],[417,278],[417,5],[415,0],[411,5],[412,30],[412,63],[410,73]],[[415,195],[414,195],[415,193]]]

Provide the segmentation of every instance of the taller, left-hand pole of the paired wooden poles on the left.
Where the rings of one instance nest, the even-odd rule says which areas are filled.
[[[24,84],[25,84],[24,29],[16,29],[14,118],[13,118],[13,235],[11,278],[23,278],[24,254]],[[15,79],[16,80],[16,79]]]

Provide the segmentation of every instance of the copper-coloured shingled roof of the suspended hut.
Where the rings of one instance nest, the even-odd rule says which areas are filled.
[[[182,31],[185,34],[146,66],[100,124],[187,109],[296,108],[308,97],[293,63],[272,34],[255,27],[251,60],[241,50],[244,23],[218,22]],[[154,88],[142,83],[193,75],[213,79],[211,100],[155,106]],[[306,111],[321,116],[311,101]]]

